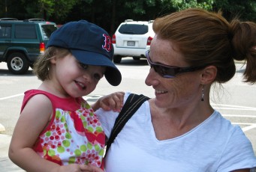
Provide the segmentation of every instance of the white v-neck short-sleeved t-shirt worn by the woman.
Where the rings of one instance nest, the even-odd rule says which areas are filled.
[[[118,113],[99,109],[96,114],[109,136]],[[105,161],[107,172],[226,172],[256,167],[251,142],[218,111],[190,132],[159,141],[148,101],[117,135]]]

